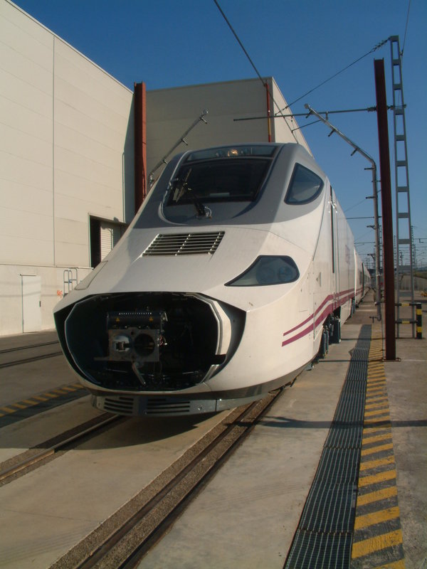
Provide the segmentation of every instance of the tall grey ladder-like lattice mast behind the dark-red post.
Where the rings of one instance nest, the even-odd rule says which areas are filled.
[[[391,80],[393,83],[394,181],[396,187],[396,336],[399,338],[399,326],[408,323],[412,324],[412,336],[415,337],[416,319],[413,298],[413,240],[401,51],[399,36],[391,36],[389,40],[391,47]],[[404,275],[409,275],[410,277],[408,292],[401,290]],[[406,297],[405,303],[402,303],[401,297]],[[409,300],[408,297],[410,297],[409,304],[412,305],[410,321],[401,319],[401,304],[406,304]]]

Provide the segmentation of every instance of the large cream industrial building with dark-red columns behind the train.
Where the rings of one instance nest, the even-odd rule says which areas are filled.
[[[0,335],[53,328],[186,145],[308,149],[273,78],[130,90],[9,0],[0,38]]]

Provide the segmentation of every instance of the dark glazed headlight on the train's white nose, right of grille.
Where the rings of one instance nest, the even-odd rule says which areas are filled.
[[[226,283],[228,287],[262,287],[294,282],[300,276],[294,260],[288,256],[262,255],[245,272]]]

